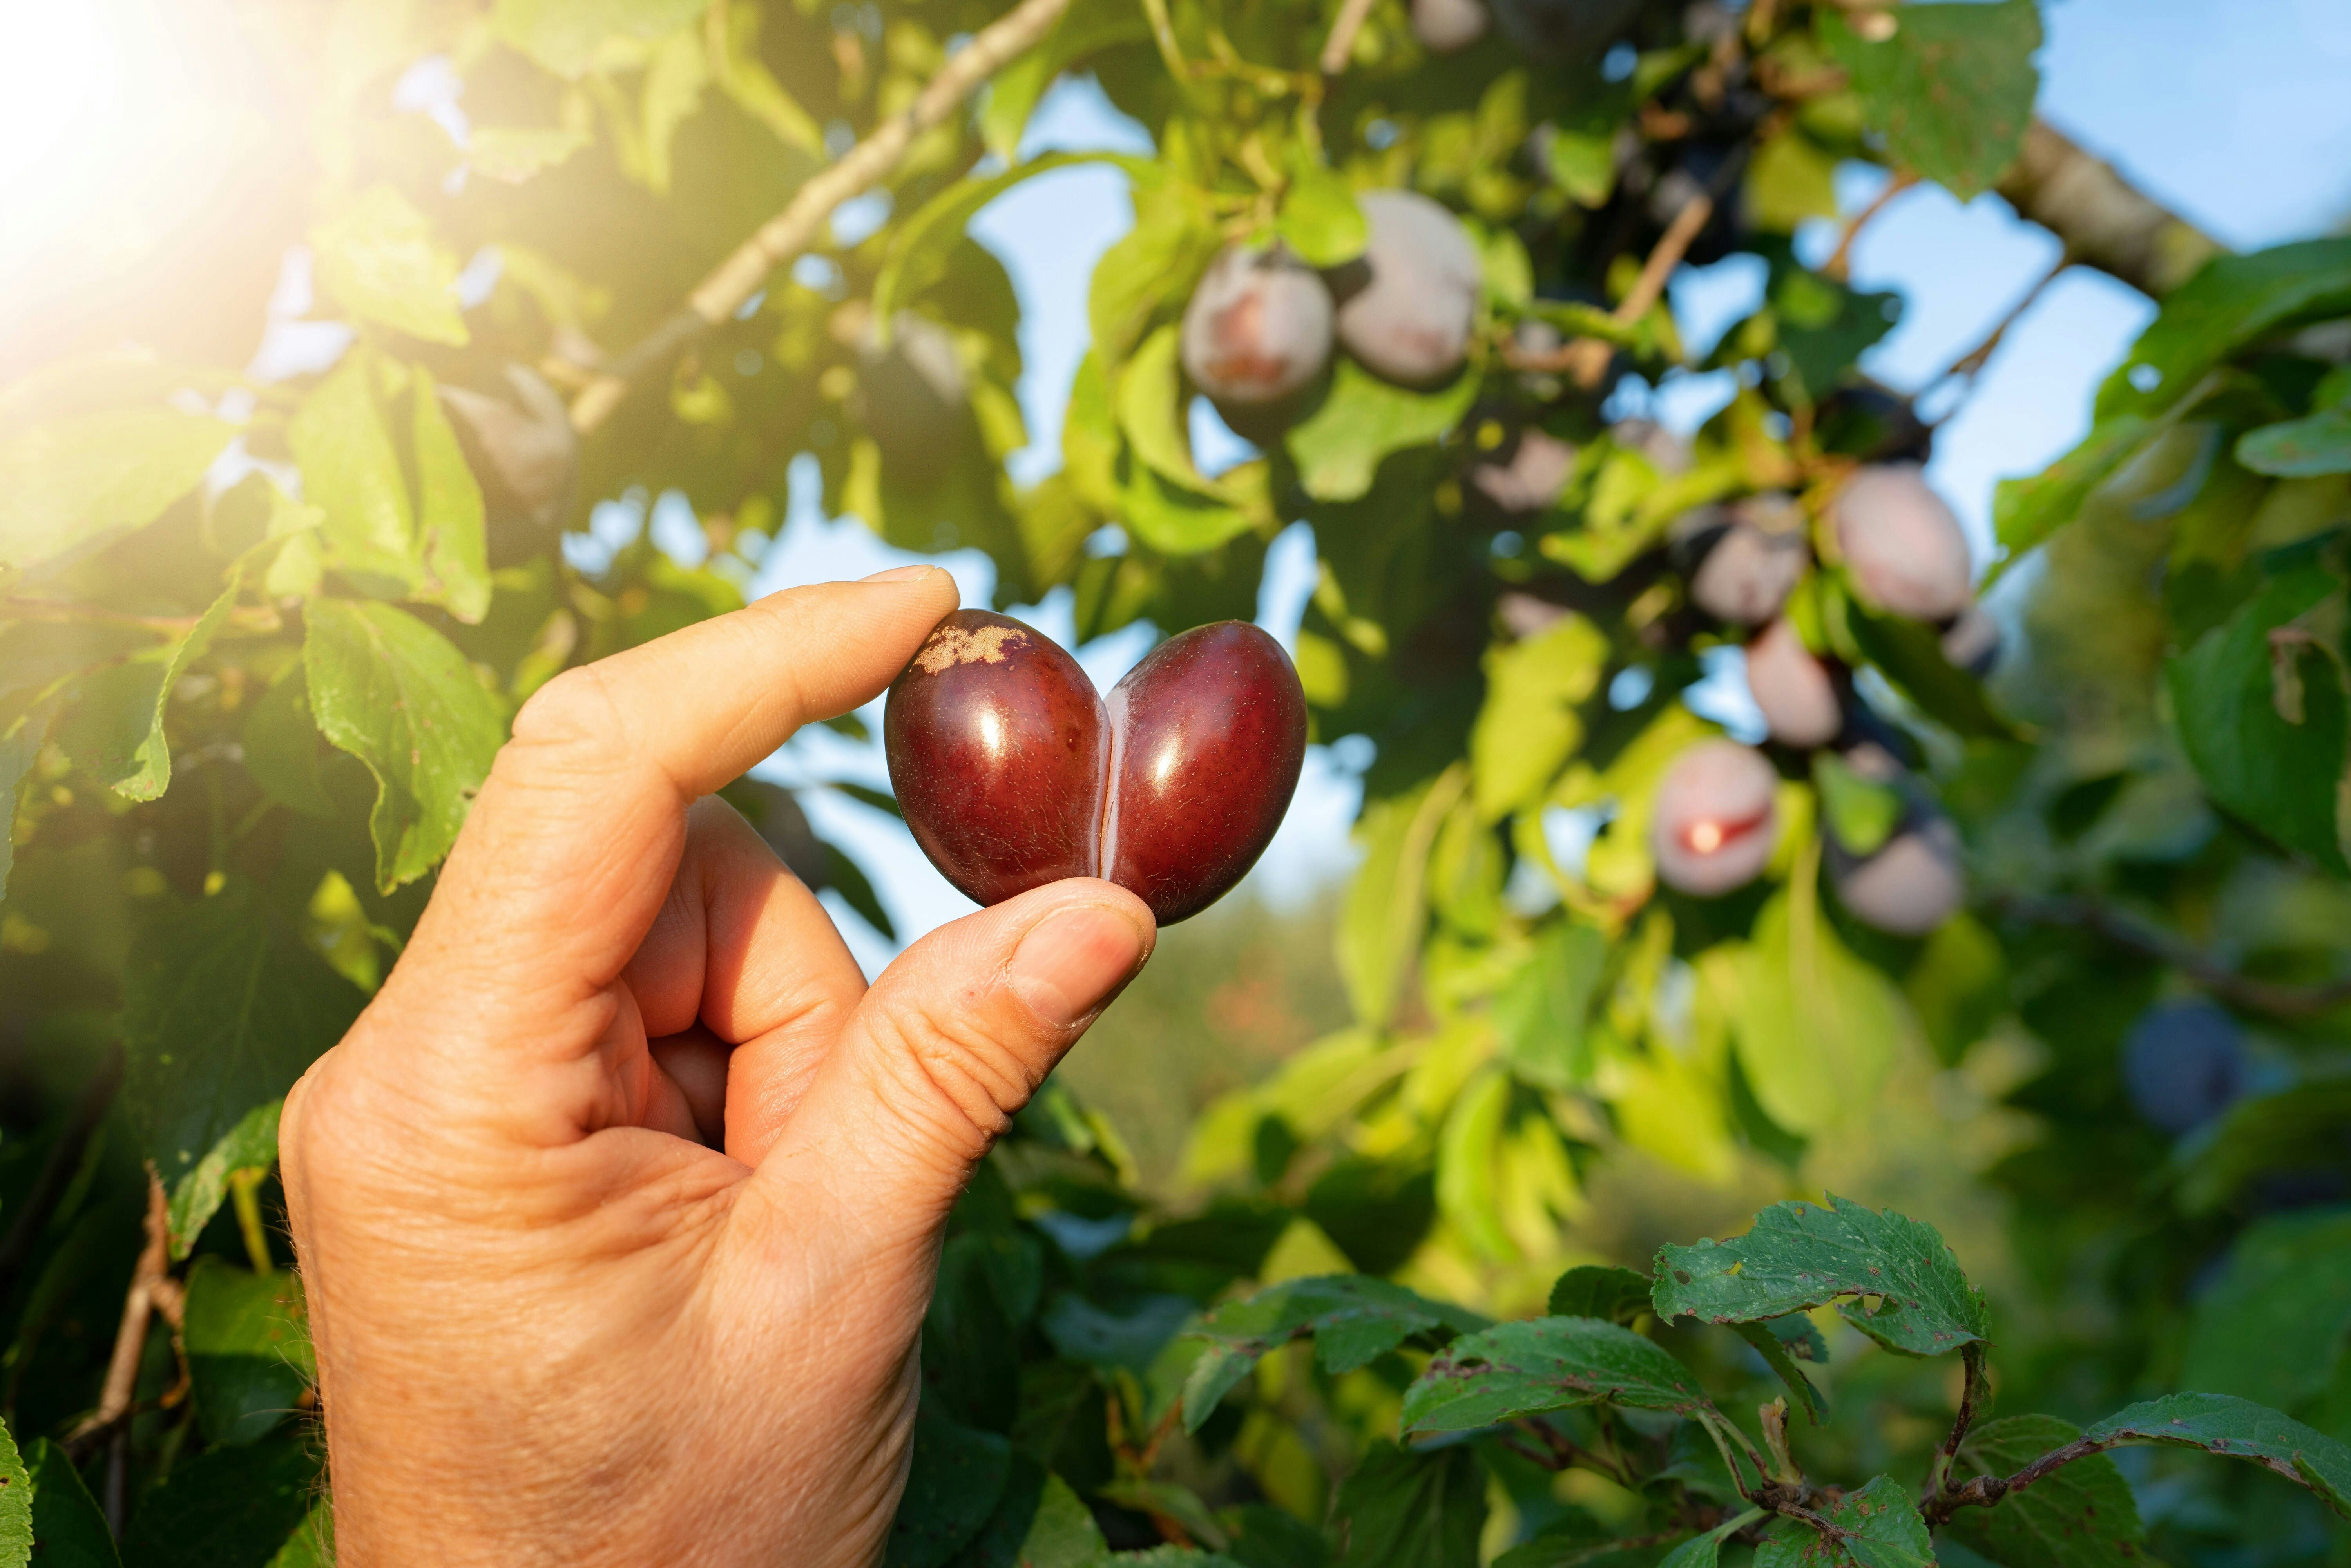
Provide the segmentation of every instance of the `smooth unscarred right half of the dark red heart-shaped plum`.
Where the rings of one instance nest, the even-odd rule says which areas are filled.
[[[1281,827],[1307,693],[1279,642],[1220,621],[1152,649],[1107,708],[1103,875],[1171,926],[1230,893]]]

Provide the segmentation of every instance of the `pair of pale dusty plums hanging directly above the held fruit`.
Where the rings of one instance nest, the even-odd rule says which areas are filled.
[[[1453,378],[1469,355],[1483,270],[1460,221],[1413,190],[1357,195],[1368,237],[1317,273],[1288,247],[1230,244],[1192,289],[1183,369],[1225,423],[1267,437],[1317,397],[1333,348],[1399,386]]]

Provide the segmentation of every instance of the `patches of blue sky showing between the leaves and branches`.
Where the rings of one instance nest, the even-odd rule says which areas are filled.
[[[2043,14],[2041,113],[2215,237],[2250,249],[2351,219],[2351,5],[2344,0],[2045,0]],[[1049,96],[1023,150],[1046,148],[1147,153],[1150,143],[1091,85],[1072,82]],[[1864,169],[1841,181],[1848,212],[1876,183]],[[1053,468],[1063,393],[1084,353],[1086,280],[1128,223],[1124,176],[1103,167],[1041,176],[973,221],[973,235],[1011,270],[1025,313],[1023,404],[1034,447],[1016,465],[1023,480]],[[1998,197],[1961,205],[1935,188],[1904,193],[1853,254],[1855,284],[1909,299],[1902,324],[1867,367],[1895,386],[1921,386],[1980,341],[2055,256],[2055,240],[2017,223]],[[1702,339],[1744,313],[1754,287],[1751,268],[1735,263],[1686,270],[1674,306]],[[1933,480],[1975,529],[1980,550],[1989,541],[1994,482],[2045,465],[2083,433],[2092,388],[2151,313],[2123,284],[2074,268],[2008,334],[1965,407],[1942,428],[1933,463]],[[1704,383],[1667,388],[1660,414],[1695,423],[1719,395]],[[1218,440],[1213,428],[1197,435],[1204,447]],[[898,559],[910,557],[856,522],[820,517],[813,487],[802,482],[792,522],[759,576],[762,588],[783,588]],[[947,564],[966,599],[985,599],[985,559]],[[1312,541],[1293,529],[1274,552],[1260,602],[1260,621],[1277,635],[1295,630],[1310,574]],[[1032,618],[1046,632],[1070,635],[1065,602],[1049,599]],[[1107,637],[1079,658],[1107,684],[1145,651],[1147,637],[1145,630]],[[879,729],[879,703],[868,717]],[[1248,886],[1260,896],[1310,898],[1345,872],[1357,806],[1347,762],[1324,752],[1310,759],[1281,837],[1251,875]],[[795,785],[884,780],[875,748],[832,733],[795,741],[766,771]],[[818,827],[872,872],[903,940],[971,910],[898,823],[830,790],[811,790],[806,799]],[[889,959],[891,947],[860,922],[846,917],[844,926],[870,971]]]

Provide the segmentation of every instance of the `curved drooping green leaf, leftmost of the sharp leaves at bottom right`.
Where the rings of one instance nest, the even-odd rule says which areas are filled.
[[[1286,1279],[1225,1302],[1187,1331],[1187,1338],[1208,1340],[1211,1349],[1185,1380],[1185,1432],[1197,1432],[1262,1354],[1291,1340],[1314,1335],[1314,1359],[1324,1371],[1352,1373],[1413,1335],[1444,1340],[1483,1326],[1486,1319],[1467,1307],[1432,1302],[1368,1274]]]

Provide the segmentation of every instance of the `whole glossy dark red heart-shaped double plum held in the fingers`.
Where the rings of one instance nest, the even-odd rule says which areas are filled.
[[[959,609],[891,684],[882,743],[922,853],[978,903],[1107,877],[1171,926],[1265,853],[1307,698],[1246,621],[1168,637],[1103,701],[1037,628]]]

